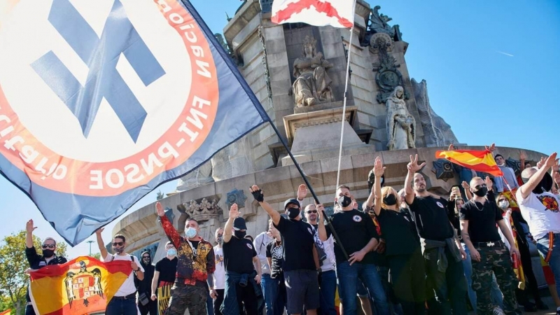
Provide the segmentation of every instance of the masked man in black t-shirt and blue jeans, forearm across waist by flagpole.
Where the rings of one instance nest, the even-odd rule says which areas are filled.
[[[379,315],[388,315],[389,305],[381,283],[381,276],[374,264],[374,248],[379,244],[379,234],[369,215],[353,209],[350,188],[339,186],[335,204],[339,212],[332,216],[332,228],[337,231],[342,244],[335,244],[339,297],[344,314],[356,314],[356,288],[358,279],[370,291]],[[346,258],[341,246],[349,254]]]

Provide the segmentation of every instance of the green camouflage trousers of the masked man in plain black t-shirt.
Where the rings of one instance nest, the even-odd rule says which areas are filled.
[[[475,247],[480,261],[472,260],[472,290],[477,294],[477,314],[492,315],[494,305],[490,300],[492,272],[496,274],[498,286],[503,293],[505,314],[521,314],[517,309],[517,278],[513,272],[510,251],[500,243],[492,247]]]

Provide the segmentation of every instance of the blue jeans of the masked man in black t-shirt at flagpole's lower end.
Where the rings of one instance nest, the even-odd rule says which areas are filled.
[[[356,315],[356,286],[360,279],[370,296],[373,298],[378,315],[389,315],[389,304],[387,296],[381,284],[381,278],[377,272],[377,266],[373,264],[362,264],[349,262],[337,264],[338,289],[342,304],[344,304],[344,315]]]

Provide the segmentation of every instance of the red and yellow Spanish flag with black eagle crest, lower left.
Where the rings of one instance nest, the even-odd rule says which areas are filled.
[[[36,314],[92,314],[105,310],[131,272],[128,260],[82,256],[31,272],[29,295]]]

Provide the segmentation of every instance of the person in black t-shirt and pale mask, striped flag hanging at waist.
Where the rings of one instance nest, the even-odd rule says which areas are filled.
[[[159,314],[163,314],[169,299],[171,298],[171,288],[175,282],[177,272],[177,250],[171,241],[165,244],[166,255],[162,260],[155,263],[155,272],[152,281],[151,299],[158,300]]]

